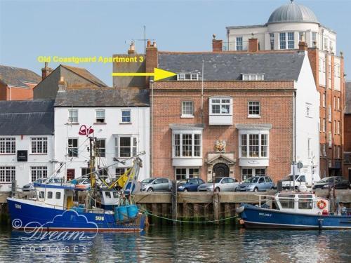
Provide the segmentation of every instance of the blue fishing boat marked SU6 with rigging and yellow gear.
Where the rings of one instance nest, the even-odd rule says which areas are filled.
[[[91,139],[93,140],[93,138]],[[133,157],[133,167],[110,184],[100,177],[91,161],[91,184],[46,182],[34,184],[34,191],[14,192],[7,198],[13,229],[42,231],[140,232],[145,228],[146,215],[133,203],[133,189],[142,161]],[[53,175],[55,176],[55,175]],[[104,187],[98,186],[99,180]]]

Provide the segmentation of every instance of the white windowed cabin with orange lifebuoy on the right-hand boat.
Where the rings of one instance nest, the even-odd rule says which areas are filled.
[[[260,196],[260,207],[277,209],[289,213],[310,215],[329,215],[329,200],[305,193],[277,193],[273,198],[265,196],[265,203]],[[269,200],[270,199],[270,200]],[[261,202],[263,205],[261,205]]]

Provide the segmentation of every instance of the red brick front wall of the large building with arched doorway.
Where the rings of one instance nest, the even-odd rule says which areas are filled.
[[[232,126],[208,125],[208,97],[227,95],[233,97]],[[192,100],[194,118],[182,119],[181,102]],[[261,118],[248,118],[248,102],[260,101]],[[172,166],[171,123],[204,123],[202,136],[203,166],[201,177],[206,180],[208,152],[214,151],[216,140],[226,140],[226,152],[234,152],[238,158],[238,130],[235,123],[271,123],[270,166],[267,174],[274,181],[290,173],[293,155],[293,81],[233,81],[204,83],[204,121],[201,118],[201,82],[157,81],[154,83],[154,176],[174,178]],[[241,180],[239,160],[235,165],[234,177]]]

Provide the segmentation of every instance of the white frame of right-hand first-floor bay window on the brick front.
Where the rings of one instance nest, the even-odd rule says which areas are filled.
[[[241,142],[241,135],[246,135],[246,146]],[[250,135],[258,135],[258,156],[250,156]],[[263,136],[266,135],[267,145],[263,145]],[[267,156],[262,156],[263,148],[266,147]],[[241,154],[241,148],[246,148],[246,156]],[[268,130],[249,130],[239,133],[239,158],[241,159],[269,159],[270,158],[270,133]]]

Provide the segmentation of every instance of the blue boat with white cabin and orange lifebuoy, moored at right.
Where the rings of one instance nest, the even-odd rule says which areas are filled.
[[[263,229],[351,229],[346,208],[329,213],[329,200],[306,193],[277,193],[259,196],[259,204],[237,208],[246,228]]]

